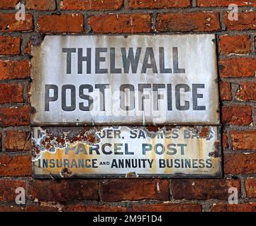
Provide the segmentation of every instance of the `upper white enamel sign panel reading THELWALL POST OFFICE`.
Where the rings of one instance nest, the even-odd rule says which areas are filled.
[[[31,124],[218,125],[215,35],[48,35]]]

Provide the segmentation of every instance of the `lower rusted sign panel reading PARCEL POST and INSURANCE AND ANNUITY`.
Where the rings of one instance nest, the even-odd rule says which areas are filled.
[[[221,177],[216,126],[35,127],[33,177]]]

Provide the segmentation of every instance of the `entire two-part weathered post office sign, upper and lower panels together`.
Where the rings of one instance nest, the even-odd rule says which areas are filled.
[[[221,177],[215,35],[49,35],[32,55],[33,177]]]

